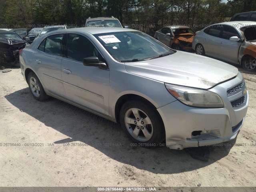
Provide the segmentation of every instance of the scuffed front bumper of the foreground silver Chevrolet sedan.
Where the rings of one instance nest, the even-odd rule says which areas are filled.
[[[234,108],[230,101],[234,96],[228,98],[227,90],[232,85],[239,84],[241,76],[210,89],[222,97],[224,108],[194,108],[179,101],[158,108],[166,130],[166,146],[183,149],[218,144],[236,138],[244,123],[249,97],[246,91],[244,104]]]

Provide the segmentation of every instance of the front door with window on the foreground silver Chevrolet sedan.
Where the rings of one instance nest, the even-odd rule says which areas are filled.
[[[98,49],[87,37],[82,34],[67,34],[61,64],[66,98],[108,115],[110,71],[84,66],[83,59],[91,56],[97,56],[101,62],[105,62]]]

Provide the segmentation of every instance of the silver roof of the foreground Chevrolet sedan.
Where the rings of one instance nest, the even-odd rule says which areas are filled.
[[[65,30],[58,30],[58,31],[53,31],[49,32],[54,33],[54,32],[78,32],[78,33],[84,33],[88,32],[90,34],[100,34],[100,33],[111,33],[111,32],[124,32],[124,31],[138,31],[134,29],[128,29],[128,28],[118,28],[118,27],[80,27],[80,28],[70,28],[70,29],[65,29]]]

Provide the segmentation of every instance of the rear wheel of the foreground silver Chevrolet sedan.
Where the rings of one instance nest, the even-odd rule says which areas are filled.
[[[28,74],[28,86],[33,97],[38,101],[44,101],[49,98],[44,88],[34,72]]]

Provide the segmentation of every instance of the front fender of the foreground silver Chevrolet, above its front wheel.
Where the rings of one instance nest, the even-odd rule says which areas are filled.
[[[121,96],[134,94],[151,102],[156,108],[176,101],[168,92],[164,82],[131,74],[124,63],[114,62],[110,69],[110,116],[115,118],[116,102]]]

